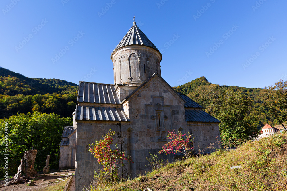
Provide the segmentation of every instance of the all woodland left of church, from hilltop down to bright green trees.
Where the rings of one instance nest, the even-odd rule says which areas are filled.
[[[9,175],[16,174],[24,152],[33,147],[38,150],[37,171],[43,169],[47,155],[51,168],[59,167],[59,143],[64,126],[72,124],[77,90],[77,84],[65,80],[28,78],[0,68],[0,153],[9,153]],[[9,138],[4,137],[4,125],[10,127]],[[4,145],[7,138],[9,147]],[[2,177],[4,164],[1,159]]]

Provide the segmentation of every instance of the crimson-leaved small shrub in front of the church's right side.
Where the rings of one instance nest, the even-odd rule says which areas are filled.
[[[168,133],[167,138],[170,139],[170,142],[165,143],[159,153],[171,154],[180,152],[183,153],[185,158],[187,159],[187,152],[193,149],[191,135],[189,133],[182,134],[181,131],[176,134],[173,130]]]

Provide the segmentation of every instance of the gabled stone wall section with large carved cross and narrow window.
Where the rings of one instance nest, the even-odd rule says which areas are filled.
[[[181,98],[158,76],[144,86],[128,100],[128,112],[125,112],[131,120],[130,127],[122,126],[123,150],[126,149],[134,162],[125,166],[124,172],[131,178],[151,170],[146,158],[150,153],[158,153],[167,143],[168,131],[187,129]],[[159,158],[172,162],[174,155],[159,154]]]

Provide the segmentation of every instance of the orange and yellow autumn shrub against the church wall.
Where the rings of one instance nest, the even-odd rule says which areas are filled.
[[[98,164],[103,166],[100,173],[105,175],[108,182],[119,180],[118,170],[124,165],[124,161],[132,162],[131,156],[126,156],[125,152],[120,151],[117,144],[115,149],[112,149],[115,132],[111,129],[103,135],[104,139],[97,140],[90,146],[90,153],[98,160]]]

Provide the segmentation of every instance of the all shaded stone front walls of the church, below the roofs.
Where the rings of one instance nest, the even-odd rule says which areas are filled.
[[[79,106],[83,105],[80,103]],[[94,104],[97,105],[97,104]],[[90,184],[90,178],[100,168],[98,162],[88,151],[88,145],[94,143],[108,132],[116,132],[114,143],[121,151],[132,157],[133,164],[128,163],[120,169],[120,174],[134,178],[151,170],[147,157],[158,153],[169,131],[176,130],[191,133],[195,137],[195,151],[208,147],[220,139],[218,122],[187,122],[185,101],[158,74],[133,91],[117,105],[125,111],[129,121],[86,121],[77,120],[76,151],[76,188]],[[189,108],[191,109],[191,108]],[[81,111],[83,113],[83,111]],[[80,113],[78,115],[81,115]],[[85,112],[84,112],[85,113]],[[206,150],[208,152],[209,150]],[[178,154],[164,155],[160,158],[172,162]]]

